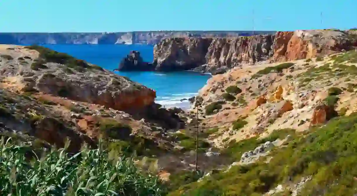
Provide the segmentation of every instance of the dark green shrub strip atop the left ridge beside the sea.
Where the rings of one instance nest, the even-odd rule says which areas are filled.
[[[30,50],[36,50],[40,53],[39,61],[38,61],[40,62],[38,63],[39,65],[52,62],[52,63],[59,63],[62,65],[66,65],[67,67],[74,68],[77,71],[84,71],[85,68],[97,69],[103,71],[103,69],[99,66],[91,66],[83,60],[76,59],[66,53],[50,50],[49,48],[46,47],[32,45],[32,46],[26,46],[25,48]]]

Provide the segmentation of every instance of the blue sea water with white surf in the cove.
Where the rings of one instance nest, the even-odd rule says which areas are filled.
[[[113,70],[118,67],[120,60],[131,50],[140,51],[144,61],[152,62],[152,45],[42,45],[58,52],[68,53],[76,58],[96,64],[105,69]],[[209,79],[210,75],[197,72],[115,72],[127,76],[132,81],[139,82],[156,91],[156,103],[165,107],[181,107],[187,109],[187,101],[183,98],[195,96]]]

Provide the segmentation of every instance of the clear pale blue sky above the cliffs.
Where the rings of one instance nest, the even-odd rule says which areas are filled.
[[[344,30],[357,0],[0,0],[0,16],[0,32]]]

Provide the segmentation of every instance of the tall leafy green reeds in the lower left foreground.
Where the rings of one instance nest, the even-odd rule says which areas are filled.
[[[38,158],[26,143],[0,141],[1,195],[165,195],[156,176],[143,173],[131,158],[115,151],[41,151],[44,155]]]

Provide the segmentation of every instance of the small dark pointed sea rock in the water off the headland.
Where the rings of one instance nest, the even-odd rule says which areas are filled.
[[[151,63],[144,62],[140,52],[131,51],[123,58],[117,69],[114,71],[154,71],[155,67]]]

